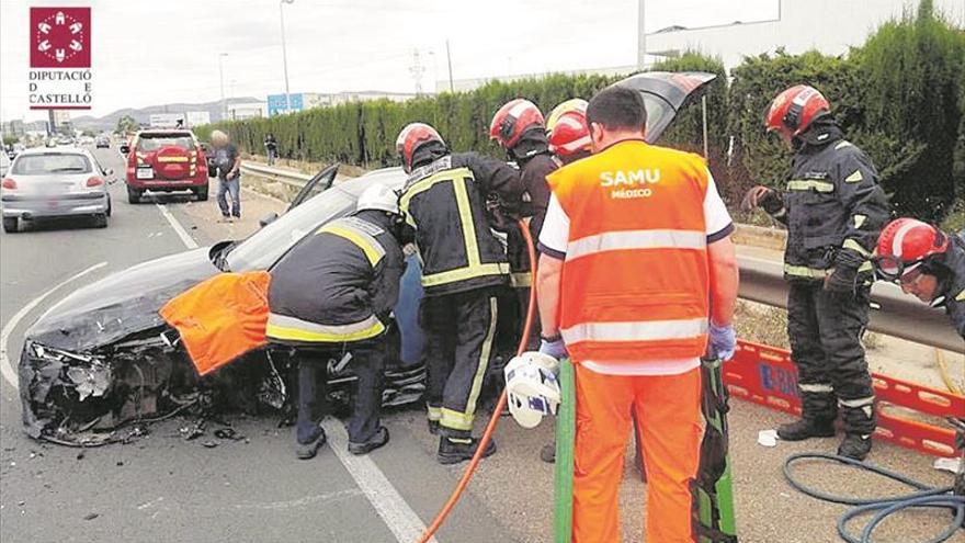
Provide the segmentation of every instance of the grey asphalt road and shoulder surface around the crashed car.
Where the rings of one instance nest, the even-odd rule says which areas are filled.
[[[123,171],[114,149],[99,149],[105,166]],[[129,205],[123,182],[111,188],[114,216],[106,229],[56,223],[0,236],[0,321],[10,331],[15,364],[23,330],[46,307],[82,284],[135,263],[240,237],[256,217],[279,203],[245,193],[246,219],[217,224],[214,203],[163,200]],[[178,226],[174,226],[178,225]],[[181,235],[179,235],[179,229]],[[182,238],[182,235],[186,239]],[[94,268],[98,264],[105,264]],[[84,275],[50,289],[75,274]],[[47,295],[18,321],[22,308]],[[8,330],[8,325],[12,328]],[[783,457],[805,450],[833,451],[835,440],[756,443],[761,429],[787,417],[737,403],[731,415],[738,524],[745,542],[832,542],[841,507],[819,504],[791,490],[781,478]],[[418,409],[387,414],[391,443],[367,460],[347,459],[333,448],[313,461],[293,454],[292,429],[272,418],[231,419],[246,440],[184,441],[174,418],[158,423],[132,444],[80,451],[35,442],[22,432],[18,393],[0,384],[0,541],[11,542],[406,542],[431,521],[455,484],[461,467],[434,462],[436,441]],[[340,451],[344,435],[330,420]],[[545,542],[552,539],[552,466],[538,460],[552,439],[550,425],[524,431],[504,419],[497,432],[500,451],[485,461],[466,497],[438,541]],[[873,461],[929,484],[945,484],[932,459],[881,444]],[[888,485],[864,475],[807,467],[806,478],[844,493],[878,495]],[[643,488],[627,462],[622,488],[624,538],[643,541]],[[921,539],[943,514],[916,513],[889,522],[887,541]],[[952,541],[965,542],[965,535]]]

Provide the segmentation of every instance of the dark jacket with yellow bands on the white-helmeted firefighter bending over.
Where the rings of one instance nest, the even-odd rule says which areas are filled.
[[[382,335],[405,271],[393,228],[385,213],[363,211],[296,245],[271,270],[269,339],[341,343]]]

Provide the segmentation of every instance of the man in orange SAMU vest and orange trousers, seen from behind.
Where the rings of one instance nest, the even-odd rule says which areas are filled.
[[[587,110],[594,155],[547,178],[541,351],[576,365],[572,540],[618,542],[631,412],[647,470],[647,541],[693,541],[700,358],[734,354],[730,216],[705,161],[647,145],[637,91]]]

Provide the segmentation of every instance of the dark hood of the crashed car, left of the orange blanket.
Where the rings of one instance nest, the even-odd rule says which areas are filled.
[[[84,352],[164,326],[161,306],[218,273],[208,252],[194,249],[150,260],[83,286],[44,313],[26,339]]]

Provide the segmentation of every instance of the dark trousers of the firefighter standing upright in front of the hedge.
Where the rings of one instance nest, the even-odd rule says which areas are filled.
[[[870,287],[854,295],[828,293],[820,283],[792,282],[787,294],[791,360],[797,366],[802,417],[835,420],[844,431],[875,429],[874,389],[861,337],[867,327]]]

